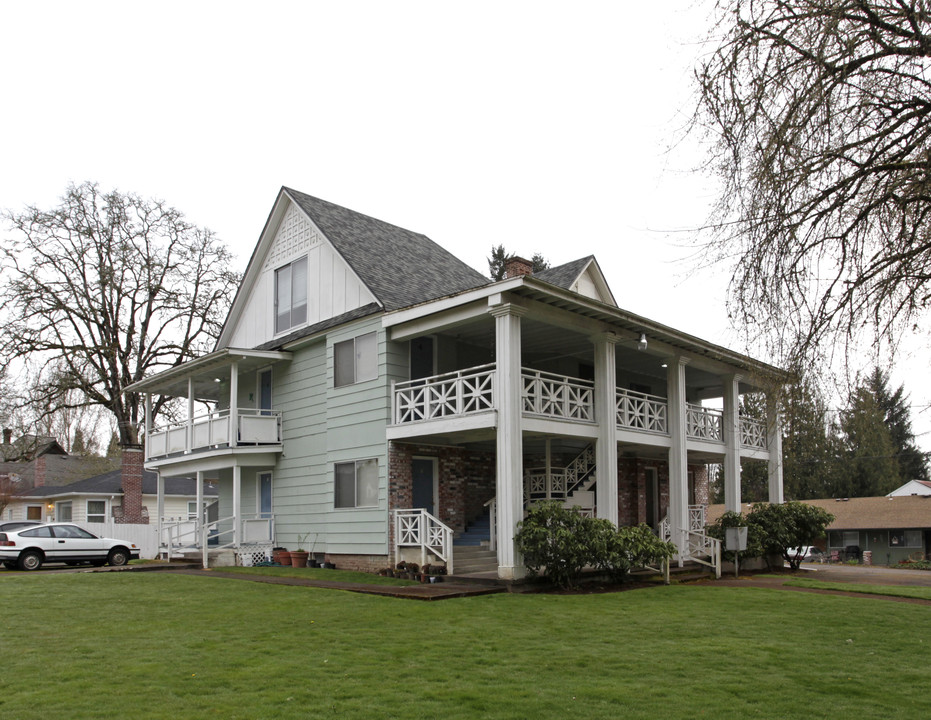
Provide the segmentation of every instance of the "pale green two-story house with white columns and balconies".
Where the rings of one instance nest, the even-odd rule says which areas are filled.
[[[768,462],[782,501],[774,398],[768,422],[738,414],[781,371],[620,309],[592,256],[530,270],[492,282],[282,188],[215,351],[127,389],[188,399],[182,422],[147,413],[146,467],[217,482],[221,547],[455,564],[484,518],[503,578],[537,500],[662,528],[683,560],[708,549],[707,463],[737,507],[741,460]]]

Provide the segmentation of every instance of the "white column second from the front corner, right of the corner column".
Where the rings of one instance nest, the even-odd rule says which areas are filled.
[[[618,523],[617,508],[617,335],[606,332],[592,338],[595,344],[595,503],[598,517]]]

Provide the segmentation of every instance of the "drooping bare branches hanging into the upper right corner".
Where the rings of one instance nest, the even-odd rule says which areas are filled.
[[[718,10],[695,122],[723,183],[706,258],[736,262],[732,318],[788,364],[823,340],[894,341],[931,303],[928,3]]]

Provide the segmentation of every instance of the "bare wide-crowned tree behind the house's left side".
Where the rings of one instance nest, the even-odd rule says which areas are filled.
[[[212,348],[239,281],[228,249],[160,200],[89,182],[5,218],[0,357],[43,376],[40,406],[103,406],[137,442],[139,399],[123,388]]]

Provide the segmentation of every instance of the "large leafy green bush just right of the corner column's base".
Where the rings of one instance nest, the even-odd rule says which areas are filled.
[[[531,574],[543,572],[562,588],[578,584],[586,566],[622,581],[631,568],[655,565],[675,553],[672,543],[660,540],[647,525],[617,528],[556,502],[532,508],[518,524],[515,541]]]

